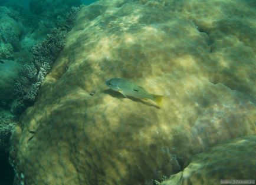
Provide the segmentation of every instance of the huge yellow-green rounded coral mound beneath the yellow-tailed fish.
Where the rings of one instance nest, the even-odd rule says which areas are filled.
[[[12,135],[15,181],[152,184],[195,154],[255,134],[253,18],[250,1],[234,0],[81,9]],[[165,95],[163,107],[107,90],[111,77]]]

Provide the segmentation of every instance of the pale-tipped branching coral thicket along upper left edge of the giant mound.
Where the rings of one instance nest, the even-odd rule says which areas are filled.
[[[19,71],[19,78],[15,83],[15,103],[12,111],[21,113],[24,108],[34,103],[35,97],[52,63],[64,47],[64,39],[67,31],[54,29],[42,42],[32,48],[34,58],[29,65],[24,65]]]

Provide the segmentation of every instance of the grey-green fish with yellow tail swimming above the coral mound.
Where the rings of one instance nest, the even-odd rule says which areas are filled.
[[[147,91],[124,78],[111,78],[106,81],[106,85],[114,91],[124,95],[124,97],[134,97],[142,100],[153,100],[159,107],[162,107],[163,95],[147,93]]]

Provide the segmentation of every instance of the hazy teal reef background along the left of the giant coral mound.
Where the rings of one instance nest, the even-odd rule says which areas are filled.
[[[0,154],[4,157],[0,170],[9,177],[2,177],[1,173],[0,184],[11,184],[14,178],[8,167],[8,153],[15,124],[34,103],[40,84],[64,47],[65,36],[80,11],[80,1],[53,2],[51,6],[52,2],[41,1],[40,5],[47,9],[38,14],[33,11],[38,8],[34,7],[38,6],[35,1],[29,1],[29,7],[21,1],[1,1]]]

